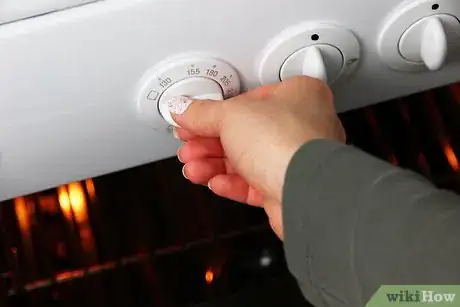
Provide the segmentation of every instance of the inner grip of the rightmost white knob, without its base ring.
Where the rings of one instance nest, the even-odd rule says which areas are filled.
[[[436,71],[444,66],[449,49],[459,38],[459,20],[438,14],[413,24],[401,37],[399,50],[406,60],[423,63]]]

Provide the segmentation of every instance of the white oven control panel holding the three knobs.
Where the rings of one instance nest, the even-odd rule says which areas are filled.
[[[0,200],[174,156],[178,94],[308,75],[345,112],[460,80],[458,0],[0,2]]]

